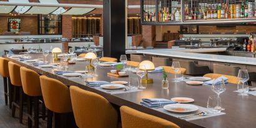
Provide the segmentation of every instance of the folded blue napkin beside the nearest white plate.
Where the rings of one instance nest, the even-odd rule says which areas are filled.
[[[175,101],[171,101],[169,99],[142,99],[140,104],[146,107],[159,107],[166,104],[175,104]]]

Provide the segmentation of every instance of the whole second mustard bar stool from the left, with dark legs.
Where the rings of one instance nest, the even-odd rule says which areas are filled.
[[[19,109],[19,122],[22,123],[23,117],[23,91],[22,91],[22,83],[21,83],[21,66],[14,62],[8,62],[9,74],[11,79],[11,84],[14,89],[12,96],[12,117],[15,116],[16,107]],[[19,103],[17,104],[17,91],[19,91]]]

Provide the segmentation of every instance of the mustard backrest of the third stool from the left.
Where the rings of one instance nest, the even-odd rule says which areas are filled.
[[[40,75],[37,72],[21,67],[22,89],[28,96],[42,96]]]

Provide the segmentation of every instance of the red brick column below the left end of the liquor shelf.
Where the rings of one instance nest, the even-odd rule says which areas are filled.
[[[143,46],[148,47],[155,45],[155,26],[142,25]]]

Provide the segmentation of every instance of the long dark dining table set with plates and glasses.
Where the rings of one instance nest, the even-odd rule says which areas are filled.
[[[32,54],[32,59],[37,59],[42,54]],[[137,77],[136,74],[130,74],[129,77],[112,77],[107,76],[107,72],[110,72],[114,67],[97,67],[97,77],[76,77],[69,78],[54,74],[51,68],[39,68],[34,67],[31,64],[21,62],[19,59],[4,56],[10,61],[16,62],[21,66],[27,67],[36,71],[41,75],[52,77],[57,79],[67,86],[78,86],[84,90],[95,92],[105,97],[109,102],[115,106],[129,106],[140,112],[145,112],[153,116],[166,119],[174,122],[180,127],[210,127],[210,128],[240,128],[240,127],[256,127],[256,97],[255,96],[239,96],[237,92],[237,85],[226,84],[226,91],[220,94],[222,107],[225,108],[225,114],[214,117],[207,117],[204,119],[196,119],[193,121],[185,121],[174,116],[170,116],[167,111],[159,111],[159,109],[145,107],[140,105],[140,101],[144,98],[164,98],[170,99],[172,97],[190,97],[195,101],[192,103],[196,106],[207,106],[207,100],[209,96],[215,96],[216,94],[211,90],[211,86],[190,86],[185,82],[174,82],[174,75],[169,74],[169,89],[162,89],[162,73],[149,74],[150,78],[154,79],[153,84],[144,85],[146,89],[142,91],[124,92],[119,94],[111,94],[106,91],[101,91],[94,87],[86,85],[85,81],[129,81],[129,77]],[[50,61],[51,57],[48,57]],[[81,71],[84,70],[89,61],[76,61],[76,64],[70,64],[66,67],[68,71]],[[86,106],[84,106],[86,107]],[[104,107],[104,106],[102,106]]]

